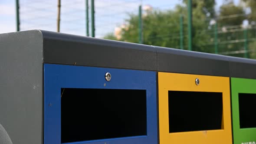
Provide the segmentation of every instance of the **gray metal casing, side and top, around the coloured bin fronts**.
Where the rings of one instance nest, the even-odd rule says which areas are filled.
[[[43,144],[43,63],[256,79],[252,59],[43,30],[0,34],[0,124],[13,144]]]

